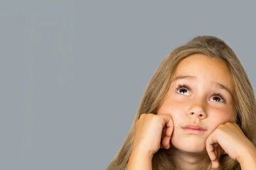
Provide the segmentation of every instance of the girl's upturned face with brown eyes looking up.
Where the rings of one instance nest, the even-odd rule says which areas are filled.
[[[206,152],[208,135],[235,122],[232,91],[225,62],[199,54],[182,60],[158,111],[174,120],[171,144],[183,152]]]

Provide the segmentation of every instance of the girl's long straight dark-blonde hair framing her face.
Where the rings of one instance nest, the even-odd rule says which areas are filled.
[[[119,152],[117,152],[117,155],[107,167],[107,170],[127,169],[127,163],[129,162],[134,141],[135,123],[139,119],[139,116],[142,113],[157,113],[161,101],[169,90],[171,77],[178,63],[193,54],[203,54],[208,57],[218,58],[225,61],[228,65],[234,87],[233,97],[236,106],[237,124],[245,133],[246,137],[255,145],[256,103],[254,92],[245,73],[245,69],[242,67],[235,52],[223,40],[213,36],[198,36],[174,49],[160,64],[144,91],[132,128]],[[171,149],[159,149],[152,159],[152,168],[163,170],[175,169],[171,157],[175,157],[175,155],[171,155]],[[202,169],[211,169],[210,161]],[[240,169],[240,165],[235,160],[230,159],[228,155],[222,155],[220,157],[219,169]]]

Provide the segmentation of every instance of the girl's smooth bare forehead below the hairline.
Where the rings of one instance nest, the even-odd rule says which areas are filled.
[[[227,64],[218,58],[201,54],[186,57],[178,64],[172,81],[177,79],[217,82],[230,90],[233,89]]]

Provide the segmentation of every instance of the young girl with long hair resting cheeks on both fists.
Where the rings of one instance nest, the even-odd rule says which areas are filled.
[[[156,70],[107,169],[256,169],[255,114],[252,86],[233,50],[198,36]]]

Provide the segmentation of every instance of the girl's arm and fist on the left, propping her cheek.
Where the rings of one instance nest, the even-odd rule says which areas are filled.
[[[135,125],[134,144],[127,170],[152,169],[153,155],[160,147],[169,149],[173,130],[171,115],[142,114]]]

